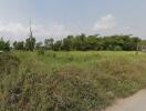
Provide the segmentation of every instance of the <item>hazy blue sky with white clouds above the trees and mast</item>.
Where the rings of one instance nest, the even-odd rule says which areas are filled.
[[[67,34],[146,38],[146,0],[0,0],[0,37],[38,40]]]

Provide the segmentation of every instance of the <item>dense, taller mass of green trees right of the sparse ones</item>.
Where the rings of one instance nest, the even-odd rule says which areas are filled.
[[[87,50],[137,50],[139,38],[132,36],[69,36],[63,40],[58,40],[53,44],[53,50],[87,51]]]

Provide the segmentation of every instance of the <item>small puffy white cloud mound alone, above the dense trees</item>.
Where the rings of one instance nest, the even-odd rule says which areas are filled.
[[[116,27],[116,18],[113,14],[102,17],[95,24],[93,30],[107,30]]]

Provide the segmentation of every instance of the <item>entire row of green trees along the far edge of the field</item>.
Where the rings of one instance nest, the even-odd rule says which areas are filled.
[[[0,50],[9,51],[28,50],[33,51],[38,49],[54,50],[54,51],[134,51],[144,42],[140,38],[133,36],[67,36],[62,40],[54,40],[53,38],[45,39],[43,42],[36,42],[34,37],[30,37],[24,41],[14,41],[10,46],[10,41],[0,39]]]

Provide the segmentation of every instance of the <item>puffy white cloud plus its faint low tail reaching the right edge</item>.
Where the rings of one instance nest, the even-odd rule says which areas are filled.
[[[133,34],[136,37],[145,37],[144,28],[133,28],[119,22],[113,14],[102,17],[93,27],[92,33],[98,32],[102,36],[112,34]]]

